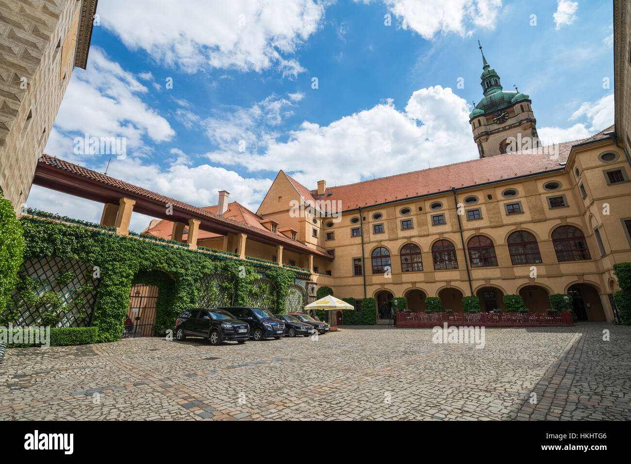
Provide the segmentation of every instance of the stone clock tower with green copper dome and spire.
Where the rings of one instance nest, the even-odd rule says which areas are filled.
[[[482,64],[484,97],[469,115],[480,158],[540,147],[530,97],[517,87],[515,91],[503,90],[500,76],[489,66],[483,52]]]

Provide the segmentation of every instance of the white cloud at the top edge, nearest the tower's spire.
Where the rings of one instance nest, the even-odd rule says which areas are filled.
[[[374,0],[355,0],[370,3]],[[468,35],[475,28],[493,29],[502,0],[382,0],[401,21],[423,38],[437,33]]]

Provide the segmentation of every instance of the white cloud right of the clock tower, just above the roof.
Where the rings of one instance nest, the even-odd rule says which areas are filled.
[[[586,101],[569,118],[572,127],[540,127],[537,129],[544,145],[585,139],[606,129],[614,120],[613,93],[596,101]],[[581,122],[579,122],[581,121]]]

